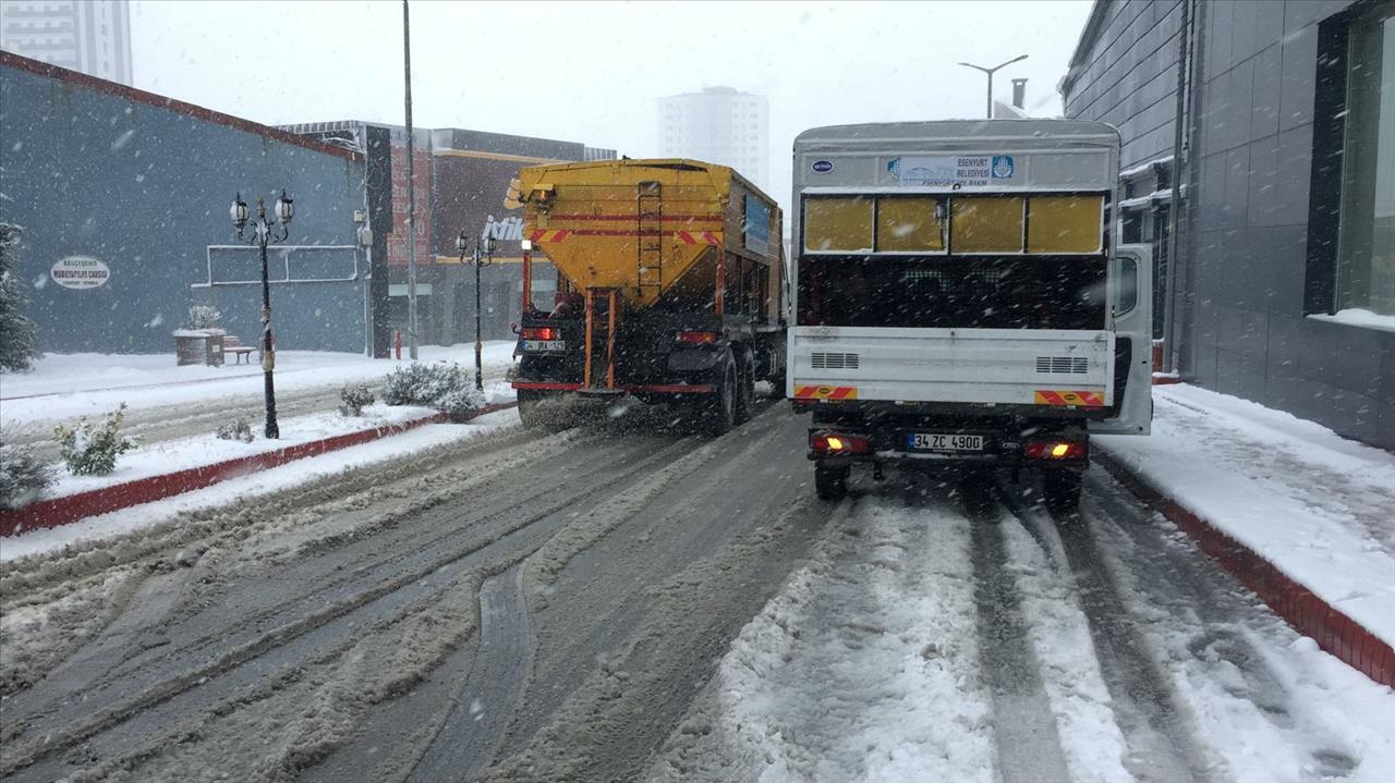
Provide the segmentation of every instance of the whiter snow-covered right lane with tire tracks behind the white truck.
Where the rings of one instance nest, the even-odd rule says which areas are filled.
[[[1003,482],[865,492],[732,642],[650,780],[1395,779],[1395,691],[1099,468],[1069,518]]]

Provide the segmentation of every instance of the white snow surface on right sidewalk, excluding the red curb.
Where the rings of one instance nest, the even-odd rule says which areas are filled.
[[[1149,437],[1098,446],[1395,645],[1395,454],[1196,386],[1154,401]]]

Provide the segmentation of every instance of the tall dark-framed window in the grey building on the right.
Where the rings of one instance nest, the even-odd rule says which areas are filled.
[[[1395,315],[1395,13],[1355,21],[1334,309]]]

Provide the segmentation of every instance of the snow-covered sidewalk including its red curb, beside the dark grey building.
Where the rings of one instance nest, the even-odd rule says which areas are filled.
[[[1101,461],[1324,649],[1395,684],[1395,454],[1189,385]],[[1382,648],[1384,645],[1384,648]]]

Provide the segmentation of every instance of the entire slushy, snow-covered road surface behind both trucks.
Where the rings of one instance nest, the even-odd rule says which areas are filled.
[[[996,478],[830,506],[805,428],[506,428],[0,563],[0,776],[1395,772],[1391,691],[1102,471],[1062,518]]]

